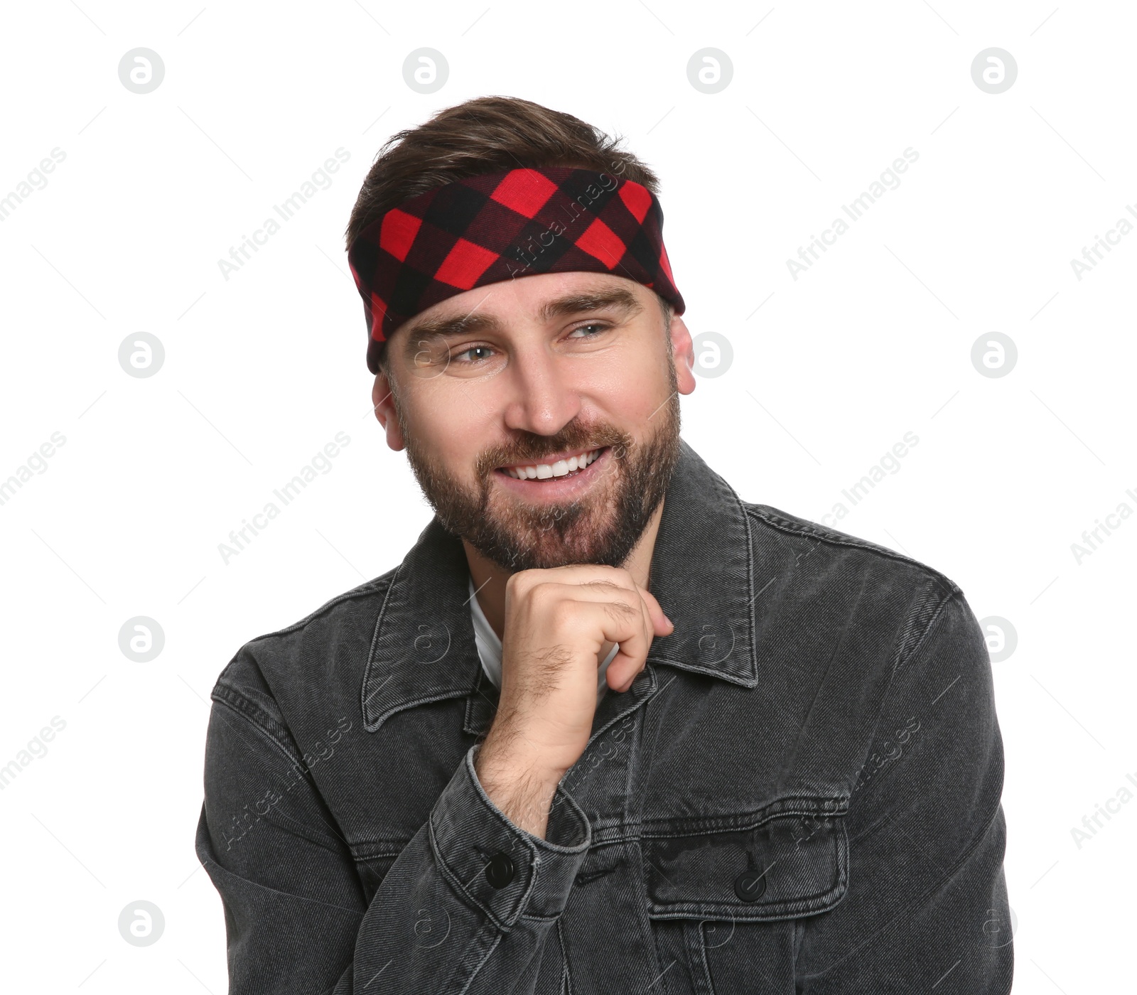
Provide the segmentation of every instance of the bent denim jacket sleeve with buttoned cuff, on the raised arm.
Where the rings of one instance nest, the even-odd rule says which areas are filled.
[[[259,696],[214,698],[197,853],[224,906],[231,995],[533,990],[591,844],[567,794],[536,837],[490,801],[472,746],[368,903],[280,716]]]

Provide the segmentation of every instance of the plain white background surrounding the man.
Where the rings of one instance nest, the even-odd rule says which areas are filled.
[[[1080,847],[1071,829],[1137,778],[1137,516],[1080,563],[1071,544],[1137,511],[1137,232],[1081,280],[1070,260],[1137,209],[1137,15],[1054,2],[6,8],[0,197],[66,158],[0,224],[0,480],[66,442],[0,505],[0,765],[66,728],[0,791],[3,987],[225,990],[193,853],[213,682],[430,517],[371,415],[343,229],[383,140],[490,93],[623,134],[661,174],[688,325],[733,347],[682,434],[741,497],[821,521],[919,438],[836,524],[1018,632],[993,665],[1015,992],[1130,986],[1137,804]],[[147,94],[118,77],[138,47],[165,65]],[[421,47],[449,65],[435,93],[404,82]],[[706,47],[733,65],[714,94],[687,75]],[[990,47],[1018,64],[998,94],[971,76]],[[218,259],[341,147],[331,186],[225,280]],[[786,260],[906,148],[901,185],[795,281]],[[139,379],[118,348],[143,331],[165,362]],[[1018,347],[997,379],[971,362],[993,331]],[[332,470],[224,563],[341,431]],[[118,647],[136,615],[165,633],[148,663]],[[119,936],[136,899],[165,915],[152,946]]]

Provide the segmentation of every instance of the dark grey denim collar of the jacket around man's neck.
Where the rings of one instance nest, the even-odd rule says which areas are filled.
[[[733,489],[686,442],[667,484],[652,556],[650,590],[675,625],[652,644],[648,664],[757,682],[750,524]],[[497,688],[474,642],[462,541],[433,519],[395,571],[364,671],[364,727],[375,731],[415,705],[468,696],[466,731],[484,732]],[[614,721],[656,689],[653,666],[621,695],[606,694],[597,719]],[[612,713],[609,715],[609,713]],[[609,724],[597,721],[595,728]]]

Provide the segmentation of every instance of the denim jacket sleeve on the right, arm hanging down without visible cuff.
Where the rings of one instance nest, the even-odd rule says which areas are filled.
[[[990,658],[957,589],[920,602],[852,787],[847,892],[795,923],[802,995],[1011,990]]]

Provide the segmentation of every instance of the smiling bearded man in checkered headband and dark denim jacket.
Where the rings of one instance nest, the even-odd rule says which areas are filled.
[[[506,98],[366,177],[375,413],[435,516],[217,681],[231,992],[1010,990],[974,615],[680,440],[657,189]]]

